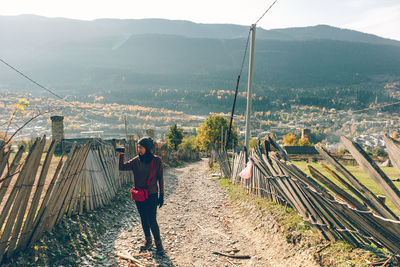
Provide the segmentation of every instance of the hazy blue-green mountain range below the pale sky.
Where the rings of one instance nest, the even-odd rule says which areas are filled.
[[[164,19],[0,16],[0,58],[60,94],[108,94],[124,102],[159,88],[233,90],[248,33],[248,26]],[[321,88],[377,95],[399,77],[400,41],[328,25],[257,28],[258,95],[268,97],[275,89],[318,94]],[[39,90],[4,66],[1,89]]]

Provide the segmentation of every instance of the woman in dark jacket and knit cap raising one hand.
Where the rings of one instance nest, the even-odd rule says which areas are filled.
[[[135,180],[135,187],[147,189],[149,197],[145,201],[136,201],[136,207],[140,214],[145,242],[141,250],[148,250],[152,247],[150,229],[153,233],[154,243],[158,253],[164,249],[160,238],[160,229],[157,224],[157,205],[161,208],[164,204],[164,177],[161,158],[152,153],[154,141],[150,137],[143,137],[138,142],[139,155],[124,163],[124,153],[119,153],[119,170],[132,171]],[[153,162],[154,161],[154,162]],[[151,171],[151,168],[153,169]],[[148,179],[150,183],[147,186]],[[159,194],[158,194],[159,193]]]

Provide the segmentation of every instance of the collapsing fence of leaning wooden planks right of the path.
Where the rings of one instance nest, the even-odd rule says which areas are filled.
[[[374,244],[387,248],[395,255],[399,254],[399,217],[324,148],[316,146],[325,161],[336,169],[321,162],[330,178],[312,166],[308,166],[312,177],[306,175],[290,162],[278,144],[271,139],[267,142],[275,147],[276,152],[266,153],[261,146],[256,147],[249,156],[253,162],[253,171],[248,180],[238,176],[246,165],[244,152],[234,156],[230,172],[233,183],[241,183],[248,192],[292,207],[312,229],[327,240],[345,240],[355,247]],[[400,192],[393,182],[358,144],[346,137],[342,137],[342,142],[400,210]],[[385,136],[385,142],[393,165],[400,173],[400,143],[388,136]],[[221,166],[226,168],[225,165]],[[227,169],[221,171],[228,172]],[[339,187],[333,179],[348,191]]]

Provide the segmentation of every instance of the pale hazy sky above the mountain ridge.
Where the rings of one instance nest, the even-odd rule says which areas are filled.
[[[0,15],[254,23],[273,0],[0,0]],[[265,29],[328,24],[400,40],[400,0],[278,0]]]

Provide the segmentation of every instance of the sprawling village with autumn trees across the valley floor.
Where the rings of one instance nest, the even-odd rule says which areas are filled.
[[[13,104],[26,95],[18,93],[3,93],[0,95],[0,132],[7,130],[7,121],[13,112]],[[150,108],[138,105],[104,104],[101,97],[93,96],[93,102],[72,101],[65,102],[41,97],[29,97],[30,106],[24,115],[16,114],[8,132],[13,132],[37,112],[40,106],[43,112],[43,103],[48,103],[47,108],[62,108],[65,116],[66,138],[102,137],[121,138],[125,136],[125,120],[127,130],[132,134],[141,135],[139,129],[154,129],[156,137],[164,139],[166,132],[172,124],[183,128],[187,136],[195,135],[196,129],[209,116],[189,115],[181,111]],[[71,104],[72,103],[72,104]],[[56,112],[53,114],[57,114]],[[219,113],[226,118],[229,114]],[[240,137],[244,138],[245,118],[243,115],[235,116],[235,126],[239,128]],[[266,134],[273,134],[279,143],[288,133],[300,134],[302,129],[310,129],[311,143],[323,143],[329,150],[338,150],[340,136],[346,135],[362,144],[367,150],[384,147],[382,136],[393,135],[400,128],[400,117],[393,113],[357,112],[336,109],[326,110],[315,106],[297,106],[279,111],[255,112],[252,116],[252,137],[263,138]],[[29,140],[31,138],[51,135],[49,115],[38,117],[28,124],[16,137],[16,140]]]

